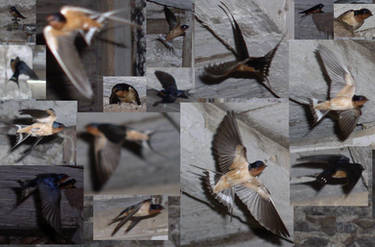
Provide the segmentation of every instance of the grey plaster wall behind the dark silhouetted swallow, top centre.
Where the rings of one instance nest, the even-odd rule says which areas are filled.
[[[246,0],[227,2],[242,30],[250,56],[264,56],[275,47],[283,34],[288,37],[286,13],[289,9],[286,8],[285,1],[267,1],[270,2],[267,4],[264,3],[265,1]],[[195,14],[233,47],[234,38],[229,19],[218,7],[218,4],[218,0],[197,1]],[[272,8],[277,11],[264,12],[263,7],[268,4],[272,4]],[[273,18],[269,17],[268,14],[274,14]],[[278,20],[278,22],[275,20]],[[203,98],[273,97],[254,79],[228,78],[220,84],[204,84],[200,78],[204,66],[231,61],[234,60],[234,56],[198,21],[195,22],[194,31],[197,96]],[[287,37],[275,54],[269,73],[270,83],[281,97],[287,97],[288,95]]]

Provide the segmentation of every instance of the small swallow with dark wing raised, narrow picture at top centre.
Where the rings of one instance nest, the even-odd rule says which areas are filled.
[[[175,14],[166,6],[164,6],[165,19],[168,22],[169,31],[165,36],[158,38],[168,49],[173,49],[171,41],[177,37],[185,36],[186,30],[189,28],[186,24],[181,24],[177,20]]]

